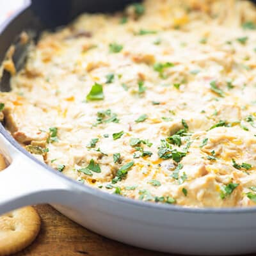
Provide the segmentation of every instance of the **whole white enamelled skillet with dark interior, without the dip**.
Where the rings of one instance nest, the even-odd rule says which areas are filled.
[[[173,0],[175,1],[175,0]],[[17,36],[67,24],[81,12],[111,12],[128,0],[34,0],[0,28],[0,61],[15,42],[15,65],[26,45]],[[10,90],[4,74],[1,91]],[[1,101],[1,99],[0,99]],[[103,236],[162,252],[234,255],[256,252],[256,207],[189,209],[110,195],[68,179],[32,157],[0,124],[0,148],[10,166],[0,172],[0,214],[38,203],[51,203],[72,220]]]

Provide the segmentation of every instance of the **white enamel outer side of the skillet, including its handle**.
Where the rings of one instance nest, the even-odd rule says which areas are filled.
[[[0,214],[49,202],[90,230],[142,248],[193,255],[256,252],[255,209],[200,211],[126,200],[52,173],[1,134],[0,145],[11,163],[0,172]]]

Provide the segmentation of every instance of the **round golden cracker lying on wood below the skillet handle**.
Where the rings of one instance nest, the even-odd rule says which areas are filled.
[[[31,206],[0,216],[0,256],[19,252],[31,244],[40,230],[40,222]]]

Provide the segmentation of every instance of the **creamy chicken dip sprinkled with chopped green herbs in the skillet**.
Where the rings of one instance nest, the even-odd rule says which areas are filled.
[[[187,207],[256,204],[256,8],[146,0],[45,32],[1,120],[78,182]],[[26,35],[22,35],[26,40]]]

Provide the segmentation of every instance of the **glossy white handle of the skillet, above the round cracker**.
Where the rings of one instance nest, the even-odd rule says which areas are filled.
[[[10,162],[0,172],[0,214],[31,204],[67,205],[71,196],[74,202],[74,189],[65,180],[22,154],[1,133],[0,149]]]

